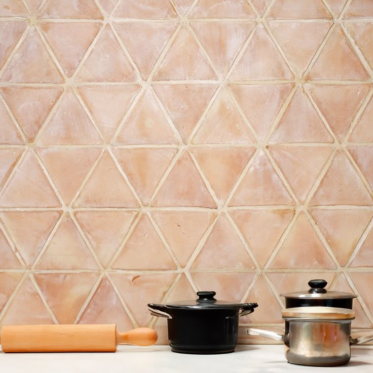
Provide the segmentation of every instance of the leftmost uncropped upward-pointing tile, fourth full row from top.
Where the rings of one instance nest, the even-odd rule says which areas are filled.
[[[41,270],[98,269],[95,259],[69,213],[63,217],[36,268]]]

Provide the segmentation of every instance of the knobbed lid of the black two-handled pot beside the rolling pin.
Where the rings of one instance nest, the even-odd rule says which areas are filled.
[[[193,301],[172,302],[165,307],[173,309],[221,309],[221,310],[240,310],[242,308],[255,308],[255,303],[234,303],[228,301],[217,301],[214,296],[215,291],[197,291],[198,299]]]

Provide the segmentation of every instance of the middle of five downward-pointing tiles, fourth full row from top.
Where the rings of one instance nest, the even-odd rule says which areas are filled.
[[[167,210],[153,211],[152,216],[180,266],[185,267],[216,213]]]

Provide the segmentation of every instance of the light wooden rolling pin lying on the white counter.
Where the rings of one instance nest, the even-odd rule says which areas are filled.
[[[0,333],[4,352],[115,352],[120,344],[150,346],[157,339],[154,329],[120,333],[115,324],[9,325]]]

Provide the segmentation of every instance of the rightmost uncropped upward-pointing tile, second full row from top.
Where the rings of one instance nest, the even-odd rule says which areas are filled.
[[[333,142],[316,109],[302,88],[294,96],[270,138],[278,142]]]

